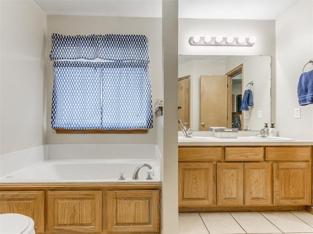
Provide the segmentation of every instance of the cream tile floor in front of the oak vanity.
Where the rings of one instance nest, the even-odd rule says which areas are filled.
[[[313,215],[291,212],[179,213],[179,234],[313,234]]]

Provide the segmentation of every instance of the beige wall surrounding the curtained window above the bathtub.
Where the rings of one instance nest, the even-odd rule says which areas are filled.
[[[149,41],[149,74],[152,85],[152,102],[162,99],[162,19],[127,17],[48,16],[47,55],[51,51],[51,35],[90,34],[141,34]],[[47,67],[47,143],[48,144],[156,144],[157,122],[148,134],[56,134],[51,128],[51,102],[53,87],[53,62],[48,59]]]

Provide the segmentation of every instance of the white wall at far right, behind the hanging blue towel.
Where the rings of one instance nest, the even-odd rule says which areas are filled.
[[[294,4],[276,20],[276,128],[280,136],[313,140],[313,105],[299,106],[297,85],[313,59],[313,1]],[[313,69],[307,65],[305,71]],[[294,118],[294,108],[301,118]]]

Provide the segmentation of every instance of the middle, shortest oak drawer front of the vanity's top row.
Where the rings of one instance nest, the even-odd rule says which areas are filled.
[[[226,161],[263,161],[264,147],[226,147]]]

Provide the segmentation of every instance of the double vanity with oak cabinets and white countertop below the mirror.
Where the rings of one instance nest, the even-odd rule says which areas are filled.
[[[179,137],[179,212],[312,212],[312,142],[191,138]]]

